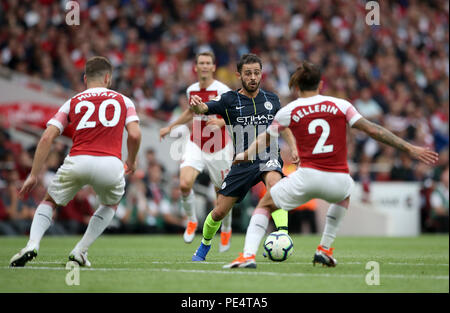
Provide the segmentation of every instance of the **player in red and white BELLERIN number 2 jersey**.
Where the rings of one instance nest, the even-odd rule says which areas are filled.
[[[285,128],[291,129],[297,142],[299,167],[276,183],[257,207],[266,210],[269,216],[277,208],[289,211],[313,198],[331,203],[313,264],[333,267],[337,261],[333,258],[331,245],[348,209],[354,185],[347,165],[347,125],[427,164],[435,163],[438,154],[414,146],[368,121],[350,102],[320,95],[321,73],[312,63],[304,61],[292,75],[289,86],[298,88],[300,97],[278,111],[267,132],[261,134],[247,151],[237,155],[235,162],[248,160],[257,151],[257,144],[265,145]],[[255,244],[259,246],[261,239],[262,236],[255,238]]]

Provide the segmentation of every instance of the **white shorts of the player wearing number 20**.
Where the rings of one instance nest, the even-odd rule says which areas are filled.
[[[94,188],[100,203],[115,205],[125,193],[125,170],[113,156],[67,156],[48,187],[58,205],[66,205],[85,185]]]

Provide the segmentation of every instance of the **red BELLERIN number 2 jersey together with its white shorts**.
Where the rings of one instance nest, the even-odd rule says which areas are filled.
[[[336,203],[350,195],[354,182],[347,163],[347,125],[360,118],[350,102],[322,95],[298,98],[278,111],[267,132],[278,136],[291,129],[300,166],[272,187],[277,207],[291,210],[313,198]]]

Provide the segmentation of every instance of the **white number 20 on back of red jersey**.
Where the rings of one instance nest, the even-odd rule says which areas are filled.
[[[107,120],[106,107],[110,104],[114,106],[114,116],[111,120]],[[78,123],[76,130],[83,128],[94,128],[96,124],[93,121],[89,121],[89,118],[92,116],[92,114],[94,114],[95,104],[90,101],[81,101],[75,106],[75,114],[79,114],[82,107],[87,107],[87,111],[86,113],[84,113],[83,117]],[[114,127],[117,125],[117,123],[119,123],[119,119],[120,103],[114,99],[104,100],[98,108],[98,120],[100,121],[100,123],[102,123],[102,125],[105,127]]]

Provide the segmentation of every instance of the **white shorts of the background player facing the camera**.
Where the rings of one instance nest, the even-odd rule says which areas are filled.
[[[188,140],[181,159],[180,168],[190,166],[202,172],[208,170],[214,186],[221,188],[222,182],[233,163],[233,143],[230,141],[222,150],[215,153],[203,152],[198,145]]]

